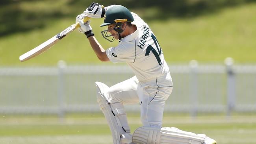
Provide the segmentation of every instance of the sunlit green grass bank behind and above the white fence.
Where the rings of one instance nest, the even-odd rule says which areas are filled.
[[[42,5],[37,4],[37,1],[32,4],[34,7]],[[26,9],[32,4],[24,2],[20,7]],[[49,9],[52,10],[52,7]],[[35,9],[27,12],[30,11],[32,13]],[[148,17],[143,11],[138,9],[134,11],[142,17]],[[152,13],[154,9],[150,11]],[[255,63],[256,17],[252,13],[256,13],[254,3],[226,7],[217,12],[192,18],[170,17],[165,20],[146,20],[146,22],[160,42],[168,63],[187,63],[191,59],[201,63],[223,63],[226,57],[233,57],[237,63]],[[75,16],[52,19],[45,21],[43,28],[35,27],[31,31],[0,37],[0,65],[56,65],[60,59],[68,64],[100,63],[86,37],[78,31],[65,37],[43,55],[25,63],[19,62],[19,55],[64,30],[74,23],[74,19]],[[93,19],[91,22],[98,41],[105,49],[117,45],[117,42],[110,43],[102,38],[100,31],[104,28],[99,27],[101,23],[102,19]]]

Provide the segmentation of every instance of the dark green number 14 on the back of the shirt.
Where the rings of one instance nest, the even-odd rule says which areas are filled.
[[[149,53],[152,52],[152,53],[155,55],[156,60],[158,61],[158,64],[159,64],[159,65],[162,65],[162,62],[161,62],[161,59],[160,59],[160,56],[161,56],[161,48],[160,48],[160,45],[159,45],[159,43],[158,43],[156,37],[153,35],[153,33],[151,34],[151,37],[152,37],[152,39],[153,39],[154,42],[155,42],[155,45],[156,45],[156,48],[157,48],[159,54],[156,52],[156,49],[155,49],[153,46],[148,45],[148,47],[147,47],[147,49],[146,49],[146,54],[145,54],[145,56],[149,55]],[[158,45],[159,45],[159,48],[158,48]]]

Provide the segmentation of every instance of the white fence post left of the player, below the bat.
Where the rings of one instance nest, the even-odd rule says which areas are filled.
[[[64,69],[66,68],[65,61],[58,61],[58,70],[59,70],[59,76],[58,76],[58,99],[59,99],[59,111],[58,116],[61,122],[64,120],[65,116],[65,102],[64,102]]]

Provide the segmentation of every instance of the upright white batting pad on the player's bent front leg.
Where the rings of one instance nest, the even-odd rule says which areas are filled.
[[[97,102],[107,119],[113,143],[125,144],[132,142],[124,106],[122,103],[109,103],[108,97],[104,94],[109,89],[107,85],[100,82],[95,82],[95,85],[98,88]]]

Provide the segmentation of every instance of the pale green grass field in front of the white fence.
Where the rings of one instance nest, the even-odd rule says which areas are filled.
[[[128,114],[134,131],[141,126],[137,114]],[[163,127],[205,133],[218,144],[255,144],[256,116],[172,116],[165,114]],[[111,133],[102,114],[67,116],[1,116],[1,144],[111,144]]]

